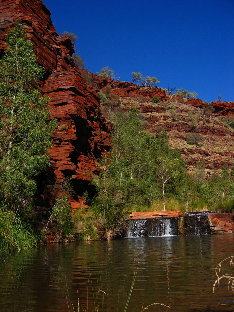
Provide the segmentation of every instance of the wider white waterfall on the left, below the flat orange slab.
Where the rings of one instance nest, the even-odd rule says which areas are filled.
[[[130,220],[127,237],[172,236],[171,219],[173,218]]]

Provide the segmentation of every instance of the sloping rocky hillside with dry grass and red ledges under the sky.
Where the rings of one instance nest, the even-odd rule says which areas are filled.
[[[106,85],[119,96],[119,107],[112,111],[128,111],[134,105],[144,115],[144,129],[157,134],[162,128],[167,131],[171,148],[177,147],[186,162],[189,173],[197,161],[203,159],[207,173],[218,173],[223,165],[234,165],[234,130],[228,120],[234,114],[234,102],[215,101],[204,103],[201,99],[184,99],[167,95],[158,87],[141,87],[129,82],[111,81],[92,74],[93,86],[105,93]],[[97,91],[98,91],[97,90]],[[158,96],[159,102],[153,103]],[[201,134],[203,142],[188,144],[188,134]]]

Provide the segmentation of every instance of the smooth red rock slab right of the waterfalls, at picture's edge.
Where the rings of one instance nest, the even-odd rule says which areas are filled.
[[[234,233],[234,213],[212,213],[209,216],[211,228],[221,233]]]

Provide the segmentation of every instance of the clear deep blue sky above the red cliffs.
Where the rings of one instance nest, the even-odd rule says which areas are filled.
[[[43,1],[43,0],[42,0]],[[73,32],[76,52],[95,73],[133,71],[158,87],[234,101],[234,0],[44,0],[57,32]]]

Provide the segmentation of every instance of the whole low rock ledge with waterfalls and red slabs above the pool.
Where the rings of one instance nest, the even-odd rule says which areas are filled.
[[[195,212],[182,216],[178,211],[134,212],[130,214],[126,237],[217,233],[234,233],[234,213]]]

